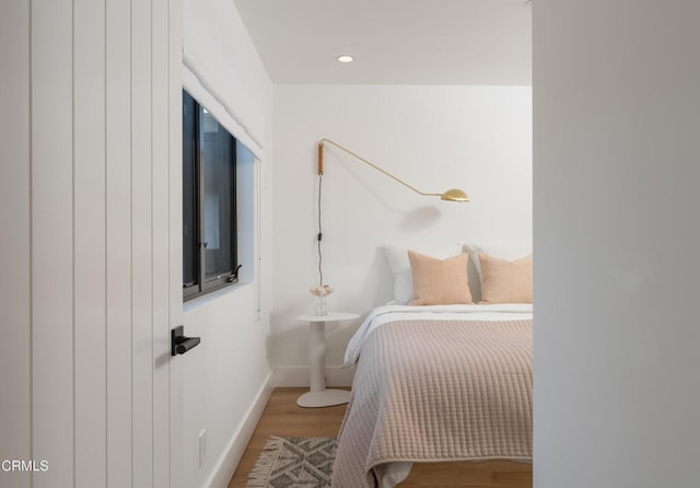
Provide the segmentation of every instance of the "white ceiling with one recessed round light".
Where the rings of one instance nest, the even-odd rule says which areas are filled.
[[[234,2],[275,83],[532,84],[526,0]]]

